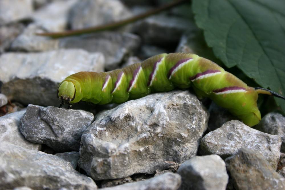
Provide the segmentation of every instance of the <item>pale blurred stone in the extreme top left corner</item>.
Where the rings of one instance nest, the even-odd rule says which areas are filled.
[[[1,0],[0,26],[28,19],[33,12],[32,0]]]

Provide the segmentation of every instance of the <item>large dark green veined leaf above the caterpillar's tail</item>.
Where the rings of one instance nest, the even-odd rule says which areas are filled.
[[[192,8],[217,58],[284,96],[284,0],[193,0]],[[285,101],[276,101],[285,111]]]

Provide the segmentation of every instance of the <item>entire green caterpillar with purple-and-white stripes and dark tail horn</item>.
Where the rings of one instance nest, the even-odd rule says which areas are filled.
[[[209,97],[248,125],[261,120],[258,94],[283,96],[268,89],[247,86],[216,63],[189,53],[159,54],[147,60],[108,72],[79,72],[62,81],[57,90],[60,107],[79,101],[94,104],[123,103],[150,93],[192,85],[200,97]]]

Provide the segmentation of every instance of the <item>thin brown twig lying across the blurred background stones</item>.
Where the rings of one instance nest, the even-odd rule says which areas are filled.
[[[36,33],[38,36],[49,36],[52,38],[60,38],[60,37],[66,37],[66,36],[75,36],[75,35],[80,35],[80,34],[87,34],[87,33],[93,33],[93,32],[100,32],[103,30],[111,30],[115,28],[119,28],[121,26],[127,25],[129,23],[133,23],[135,21],[138,21],[140,19],[144,19],[148,16],[157,14],[161,11],[165,11],[166,9],[170,9],[172,7],[175,7],[177,5],[180,5],[182,3],[185,3],[189,0],[176,0],[172,1],[170,3],[167,3],[165,5],[162,5],[161,7],[158,7],[156,9],[153,9],[151,11],[148,11],[146,13],[142,13],[139,15],[136,15],[134,17],[131,17],[129,19],[124,19],[118,22],[114,23],[109,23],[109,24],[102,24],[99,26],[91,27],[91,28],[84,28],[84,29],[79,29],[79,30],[68,30],[65,32],[44,32],[44,33]]]

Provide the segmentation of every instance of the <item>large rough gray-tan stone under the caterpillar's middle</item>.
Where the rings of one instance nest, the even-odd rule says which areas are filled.
[[[79,166],[93,179],[155,173],[195,156],[208,113],[189,91],[156,93],[99,114],[82,135]]]

